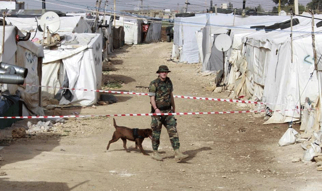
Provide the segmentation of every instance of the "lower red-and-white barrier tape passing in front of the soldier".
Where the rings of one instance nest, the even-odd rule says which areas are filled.
[[[306,109],[315,110],[315,109]],[[294,111],[294,110],[275,110],[274,112]],[[201,115],[201,114],[241,114],[241,113],[259,113],[266,110],[258,111],[232,111],[232,112],[189,112],[189,113],[160,113],[160,114],[112,114],[112,115],[67,115],[67,116],[17,116],[17,117],[0,117],[0,119],[51,119],[51,118],[85,118],[85,117],[123,117],[123,116],[174,116],[174,115]],[[272,111],[271,111],[272,112]]]

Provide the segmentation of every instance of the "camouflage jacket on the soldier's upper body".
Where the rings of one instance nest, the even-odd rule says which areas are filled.
[[[155,96],[157,108],[161,111],[171,110],[171,93],[173,91],[172,81],[169,77],[165,81],[156,78],[149,86],[149,96]],[[152,108],[152,111],[153,108]]]

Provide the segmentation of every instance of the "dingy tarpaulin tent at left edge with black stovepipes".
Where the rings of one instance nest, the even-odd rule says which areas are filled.
[[[3,28],[0,29],[3,34]],[[20,91],[21,99],[24,101],[24,116],[30,114],[42,115],[43,110],[38,106],[39,78],[37,73],[38,58],[44,57],[42,46],[34,44],[30,40],[16,42],[16,35],[24,37],[15,26],[5,26],[4,54],[1,56],[1,62],[24,67],[28,69],[25,84],[34,86],[20,86],[13,84],[2,84],[1,91],[9,90],[10,95],[15,95]],[[2,38],[0,44],[3,44]],[[0,47],[2,51],[2,46]],[[25,110],[27,108],[27,110]]]

